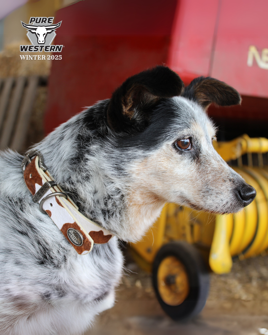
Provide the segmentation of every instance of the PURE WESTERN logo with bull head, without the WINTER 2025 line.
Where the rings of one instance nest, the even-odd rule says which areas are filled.
[[[26,36],[31,42],[31,46],[21,45],[20,52],[61,52],[62,45],[51,45],[56,36],[56,29],[60,27],[61,22],[53,23],[54,17],[31,17],[29,24],[22,21],[21,24],[28,30]]]

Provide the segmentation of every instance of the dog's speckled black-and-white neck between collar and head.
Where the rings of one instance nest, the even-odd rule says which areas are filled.
[[[148,194],[144,203],[144,197],[140,197],[141,191],[137,189],[131,198],[133,203],[129,203],[128,195],[132,187],[135,188],[135,180],[125,169],[124,156],[110,154],[113,136],[108,134],[103,139],[96,136],[99,129],[89,130],[84,126],[86,113],[94,114],[103,103],[62,124],[36,148],[43,154],[56,182],[84,215],[120,239],[136,241],[160,214],[164,202]],[[104,131],[108,129],[105,121],[101,127]],[[81,137],[84,137],[82,141]]]

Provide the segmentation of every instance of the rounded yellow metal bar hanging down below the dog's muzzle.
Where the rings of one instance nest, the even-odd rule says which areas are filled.
[[[209,265],[213,272],[228,273],[232,268],[228,226],[232,224],[233,214],[217,215],[212,245],[209,254]]]

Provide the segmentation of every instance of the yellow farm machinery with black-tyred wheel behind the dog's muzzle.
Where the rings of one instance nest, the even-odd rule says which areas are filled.
[[[205,263],[215,273],[228,273],[232,257],[244,259],[268,250],[268,139],[243,135],[215,141],[214,148],[256,189],[255,200],[226,215],[166,204],[143,240],[130,248],[134,260],[152,271],[158,301],[175,320],[204,307],[209,290]]]

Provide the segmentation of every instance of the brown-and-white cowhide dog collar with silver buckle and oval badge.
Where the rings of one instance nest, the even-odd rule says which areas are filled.
[[[39,203],[40,211],[50,216],[79,255],[89,253],[94,243],[107,243],[114,236],[79,212],[76,204],[53,180],[38,150],[26,154],[21,168],[32,200]]]

